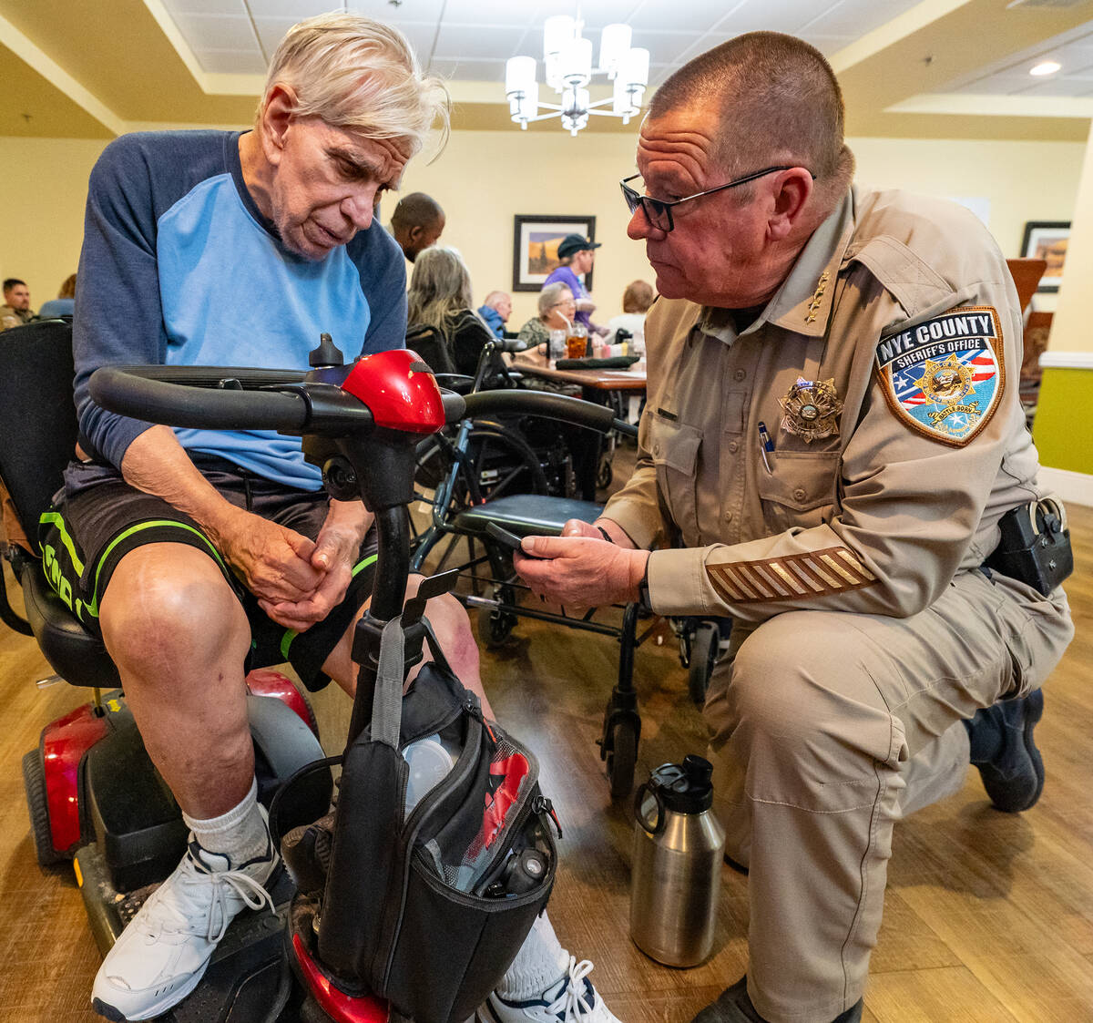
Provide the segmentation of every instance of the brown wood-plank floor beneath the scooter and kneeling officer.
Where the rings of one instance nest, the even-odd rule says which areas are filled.
[[[1079,568],[1068,584],[1078,636],[1047,687],[1037,739],[1047,786],[1031,812],[990,809],[978,775],[896,828],[884,925],[866,995],[867,1023],[1093,1021],[1093,509],[1070,509]],[[0,626],[2,628],[2,626]],[[716,952],[673,971],[627,938],[631,824],[612,806],[596,738],[615,670],[604,637],[521,622],[518,639],[483,657],[501,720],[543,764],[564,831],[551,916],[564,944],[596,963],[592,979],[625,1023],[686,1023],[747,965],[747,879],[726,869]],[[0,636],[0,1021],[98,1019],[89,1008],[98,956],[71,871],[36,866],[20,775],[40,728],[83,702],[37,691],[48,672],[34,643]],[[639,773],[702,752],[705,731],[669,636],[638,654]],[[331,687],[316,709],[339,748],[348,701]]]

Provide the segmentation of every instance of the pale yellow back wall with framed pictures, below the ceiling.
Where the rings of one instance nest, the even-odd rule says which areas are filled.
[[[1085,152],[1074,142],[850,142],[863,183],[989,199],[991,231],[1008,256],[1019,254],[1026,220],[1071,219]],[[8,198],[0,275],[26,280],[35,307],[75,269],[87,174],[103,144],[0,139],[0,180]],[[462,251],[475,301],[510,286],[514,214],[595,214],[597,238],[604,243],[597,254],[595,297],[606,319],[620,311],[630,281],[653,281],[643,246],[625,234],[618,181],[633,168],[633,138],[625,134],[585,132],[573,139],[553,126],[457,132],[433,164],[410,165],[403,191],[426,191],[445,208],[443,240]],[[391,203],[386,205],[385,223]],[[534,295],[514,298],[510,324],[519,326],[533,315]]]

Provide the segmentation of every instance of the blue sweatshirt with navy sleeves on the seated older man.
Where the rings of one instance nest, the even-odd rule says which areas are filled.
[[[114,466],[151,424],[97,407],[103,365],[306,369],[322,332],[346,358],[406,344],[406,270],[395,240],[367,231],[312,261],[255,204],[240,132],[124,136],[91,173],[73,324],[80,431]],[[271,431],[177,428],[183,447],[270,480],[320,486],[299,440]]]

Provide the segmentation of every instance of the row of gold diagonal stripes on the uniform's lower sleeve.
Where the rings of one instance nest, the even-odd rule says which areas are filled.
[[[877,576],[845,546],[707,565],[706,572],[714,588],[732,603],[827,597],[877,581]]]

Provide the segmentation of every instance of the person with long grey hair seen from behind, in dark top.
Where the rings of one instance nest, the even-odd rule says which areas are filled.
[[[471,308],[471,279],[453,248],[425,249],[410,275],[408,319],[438,330],[448,342],[456,373],[474,376],[482,349],[493,332]]]

